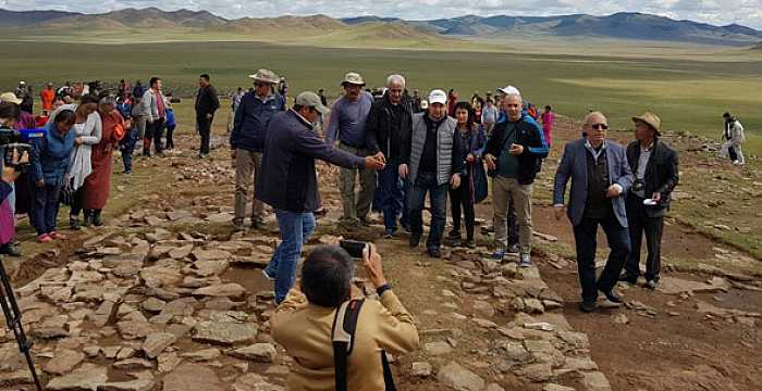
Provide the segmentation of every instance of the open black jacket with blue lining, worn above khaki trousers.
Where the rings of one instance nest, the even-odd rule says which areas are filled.
[[[507,117],[505,115],[497,119],[497,124],[490,139],[487,140],[484,154],[491,154],[495,157],[495,165],[503,152],[503,147],[508,135],[505,134]],[[526,113],[521,113],[521,118],[516,125],[516,143],[524,147],[524,153],[518,159],[518,182],[521,185],[531,185],[534,182],[534,177],[542,166],[542,160],[548,157],[548,143],[542,134],[542,128],[538,123]],[[492,174],[491,174],[492,175]]]

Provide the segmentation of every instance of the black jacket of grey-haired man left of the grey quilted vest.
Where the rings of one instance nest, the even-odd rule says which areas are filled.
[[[394,133],[392,130],[392,102],[389,100],[389,92],[384,93],[383,99],[373,102],[373,105],[370,106],[368,121],[365,125],[365,146],[371,155],[381,152],[388,159],[401,159],[402,156],[389,155],[392,139],[396,139],[396,142],[400,142],[400,153],[403,151],[402,146],[410,142],[414,114],[413,99],[403,94],[400,104],[405,111],[405,117],[402,121],[401,128]]]

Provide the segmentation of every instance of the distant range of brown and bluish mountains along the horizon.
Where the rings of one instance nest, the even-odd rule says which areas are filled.
[[[332,18],[325,15],[281,16],[272,18],[226,20],[208,11],[162,11],[157,8],[124,9],[102,14],[82,14],[59,11],[7,11],[0,9],[0,29],[16,31],[65,30],[69,28],[187,28],[239,33],[257,37],[286,28],[328,34],[346,34],[371,26],[374,36],[415,39],[489,38],[505,37],[597,37],[654,41],[697,42],[730,46],[754,46],[762,42],[762,31],[732,24],[714,26],[691,21],[642,13],[616,13],[607,16],[587,14],[562,16],[475,16],[433,21],[405,21],[394,17],[360,16]],[[365,33],[364,33],[365,34]]]

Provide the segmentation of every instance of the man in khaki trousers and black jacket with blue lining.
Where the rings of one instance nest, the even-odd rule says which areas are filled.
[[[484,161],[493,176],[492,204],[495,223],[495,252],[502,261],[507,247],[508,204],[514,203],[518,214],[518,236],[521,266],[531,265],[532,184],[542,159],[548,156],[548,144],[542,128],[521,111],[521,94],[515,87],[501,89],[505,93],[502,109],[506,118],[495,125],[487,142]]]

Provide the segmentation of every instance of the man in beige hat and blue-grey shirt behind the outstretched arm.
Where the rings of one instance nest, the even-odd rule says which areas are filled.
[[[359,157],[368,155],[366,147],[366,119],[373,104],[373,97],[364,91],[360,74],[349,72],[342,81],[345,94],[333,103],[325,130],[329,144],[339,141],[339,149]],[[359,193],[355,193],[355,178],[360,178]],[[341,223],[346,228],[365,223],[376,191],[376,172],[365,168],[345,168],[340,175],[344,214]]]

